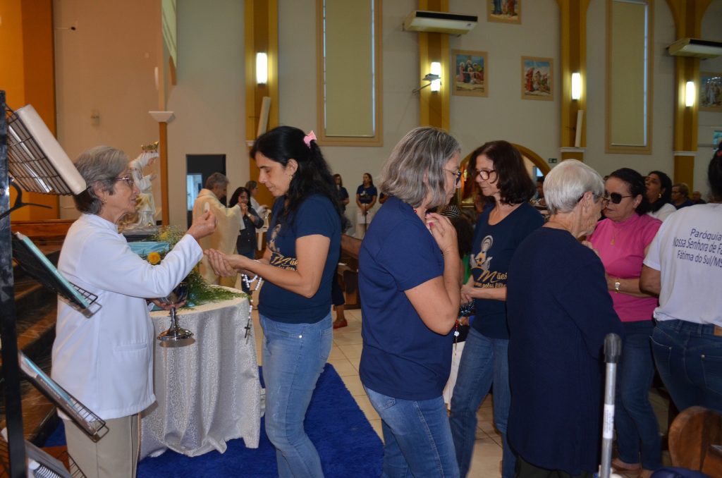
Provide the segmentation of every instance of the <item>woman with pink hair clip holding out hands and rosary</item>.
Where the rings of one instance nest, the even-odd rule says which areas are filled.
[[[341,250],[341,204],[313,131],[278,126],[251,148],[258,181],[276,197],[264,257],[206,251],[218,274],[258,274],[264,330],[266,434],[279,477],[323,477],[318,451],[303,430],[316,381],[329,358],[331,282]]]

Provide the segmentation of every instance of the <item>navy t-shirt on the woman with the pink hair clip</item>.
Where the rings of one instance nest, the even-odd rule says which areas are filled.
[[[321,284],[313,297],[290,292],[272,282],[261,287],[258,312],[274,321],[286,323],[316,323],[331,310],[331,280],[336,273],[341,250],[341,220],[329,198],[314,194],[306,198],[295,212],[295,219],[287,217],[279,223],[285,196],[276,199],[266,240],[271,250],[271,266],[296,270],[296,239],[306,235],[324,235],[331,239],[329,256],[323,266]]]

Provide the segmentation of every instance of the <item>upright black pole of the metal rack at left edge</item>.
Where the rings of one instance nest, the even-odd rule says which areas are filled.
[[[7,124],[5,92],[0,91],[0,216],[10,209],[7,163]],[[0,340],[2,341],[2,378],[5,396],[5,420],[9,473],[12,478],[25,477],[25,438],[22,431],[20,368],[17,361],[17,327],[12,275],[12,235],[10,216],[0,219]]]

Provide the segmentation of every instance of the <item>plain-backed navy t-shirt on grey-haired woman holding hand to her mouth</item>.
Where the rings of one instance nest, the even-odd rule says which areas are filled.
[[[409,204],[390,197],[359,252],[359,374],[371,390],[405,400],[441,395],[451,370],[453,335],[431,331],[404,291],[443,271],[441,250],[422,220]]]

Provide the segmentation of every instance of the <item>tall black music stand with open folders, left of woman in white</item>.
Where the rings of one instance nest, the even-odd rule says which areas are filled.
[[[28,274],[46,286],[50,286],[54,292],[58,292],[61,297],[65,297],[77,307],[88,309],[93,303],[96,303],[95,299],[97,299],[97,297],[92,298],[92,295],[88,295],[87,292],[72,287],[43,254],[38,254],[39,251],[29,239],[20,235],[13,240],[9,214],[16,209],[30,205],[22,202],[22,190],[18,184],[25,191],[42,194],[80,194],[87,188],[82,176],[35,109],[31,105],[27,105],[17,111],[8,109],[6,113],[5,92],[0,90],[0,191],[7,191],[10,186],[18,191],[12,207],[9,204],[9,194],[0,195],[0,286],[2,288],[2,294],[0,294],[0,340],[2,342],[2,375],[6,404],[8,472],[11,478],[26,476],[26,446],[22,429],[19,377],[19,356],[22,357],[22,352],[17,349],[13,254],[16,254],[17,261],[28,271]],[[43,259],[45,260],[43,261]],[[47,394],[48,391],[53,390],[50,378],[47,380],[38,378],[38,373],[35,373],[30,365],[32,362],[23,360],[23,363],[30,370],[30,375],[35,375],[35,383],[43,383],[40,385],[43,393]],[[45,374],[43,373],[43,375]],[[67,392],[65,393],[67,394]],[[67,395],[69,396],[69,394]],[[53,396],[48,397],[53,399]],[[82,414],[75,409],[77,404],[74,404],[72,400],[60,399],[57,401],[53,399],[53,401],[61,408],[68,407],[70,403],[70,409],[73,409],[75,413],[71,412],[69,416],[75,417],[74,420],[77,421],[78,417],[82,417]],[[79,422],[83,430],[85,430],[83,423],[85,421],[80,420]],[[102,422],[102,420],[100,421]],[[100,432],[104,426],[105,423],[101,426],[98,426],[97,423],[93,425],[94,429],[97,429],[95,433]],[[27,454],[35,453],[30,453],[28,450]],[[47,458],[50,459],[49,456]]]

